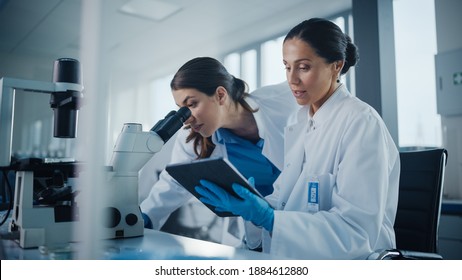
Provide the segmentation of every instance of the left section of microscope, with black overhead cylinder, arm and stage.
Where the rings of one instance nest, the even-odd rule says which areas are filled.
[[[50,94],[53,136],[75,138],[83,99],[80,63],[71,58],[56,60],[52,82],[0,79],[0,168],[16,171],[9,231],[16,233],[22,248],[67,243],[71,240],[72,224],[78,218],[68,182],[78,175],[78,168],[75,162],[59,159],[11,161],[16,90]]]

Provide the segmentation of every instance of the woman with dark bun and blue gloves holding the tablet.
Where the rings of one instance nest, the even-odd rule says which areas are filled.
[[[334,23],[313,18],[283,43],[288,84],[302,107],[285,128],[284,169],[274,193],[242,199],[203,181],[201,201],[246,221],[246,243],[299,259],[366,259],[395,246],[399,153],[383,120],[340,75],[357,47]]]

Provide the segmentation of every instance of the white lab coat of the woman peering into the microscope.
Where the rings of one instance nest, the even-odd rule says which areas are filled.
[[[258,111],[254,113],[254,117],[258,126],[259,136],[265,140],[262,150],[263,155],[282,170],[284,127],[287,124],[288,117],[297,111],[300,106],[295,102],[287,82],[260,88],[252,92],[246,98],[246,101],[252,108],[258,108]],[[172,150],[171,163],[187,162],[197,157],[194,153],[192,142],[186,143],[186,136],[188,134],[189,130],[181,129],[179,131]],[[227,158],[226,148],[217,142],[215,134],[212,136],[212,141],[216,144],[216,147],[211,157]],[[152,187],[148,197],[142,201],[140,207],[141,211],[150,217],[153,228],[160,229],[170,213],[188,201],[196,203],[195,207],[200,205],[203,209],[207,209],[163,170],[159,176],[159,181]],[[207,209],[205,211],[210,210]],[[210,211],[210,213],[212,212]],[[200,217],[196,218],[200,219]],[[237,224],[235,221],[231,222],[229,220],[225,219],[223,221],[224,227],[228,227],[229,224],[233,225],[233,228],[225,228],[220,233],[221,237],[219,239],[221,240],[219,242],[239,246],[244,234],[242,221],[240,221],[240,226],[236,228]],[[233,233],[229,234],[229,232]]]

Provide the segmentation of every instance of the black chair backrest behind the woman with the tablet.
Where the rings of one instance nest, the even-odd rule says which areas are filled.
[[[400,152],[401,175],[395,220],[396,247],[438,253],[445,149]]]

